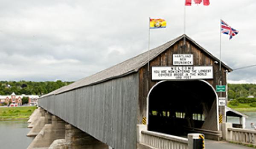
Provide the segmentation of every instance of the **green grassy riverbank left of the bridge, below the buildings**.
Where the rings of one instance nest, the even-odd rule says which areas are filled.
[[[0,107],[0,120],[28,119],[35,106]]]

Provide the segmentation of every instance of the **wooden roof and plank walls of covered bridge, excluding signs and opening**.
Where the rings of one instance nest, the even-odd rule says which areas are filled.
[[[148,92],[159,82],[151,80],[152,66],[173,66],[172,54],[193,54],[194,66],[213,66],[214,79],[206,81],[213,88],[219,84],[219,65],[214,63],[217,58],[188,38],[184,49],[181,37],[186,36],[149,52],[149,72],[145,52],[49,93],[39,99],[38,105],[114,149],[135,149],[136,124],[142,124],[147,116]],[[221,68],[222,84],[227,84],[227,68]],[[212,108],[215,113],[211,115],[217,115],[216,100]]]

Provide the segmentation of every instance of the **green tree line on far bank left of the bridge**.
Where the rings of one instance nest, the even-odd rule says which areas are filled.
[[[16,95],[45,95],[49,92],[59,89],[73,82],[68,81],[0,81],[0,95],[11,95],[15,92]]]

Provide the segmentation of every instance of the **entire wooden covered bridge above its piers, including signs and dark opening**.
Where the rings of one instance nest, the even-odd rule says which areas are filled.
[[[215,61],[181,35],[44,95],[38,105],[114,149],[136,148],[138,124],[171,135],[192,128],[218,131],[215,86],[227,84],[225,72],[232,69],[221,63],[220,72]]]

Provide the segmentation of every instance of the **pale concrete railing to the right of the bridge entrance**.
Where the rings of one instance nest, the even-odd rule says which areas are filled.
[[[227,128],[227,140],[256,145],[256,130]]]

